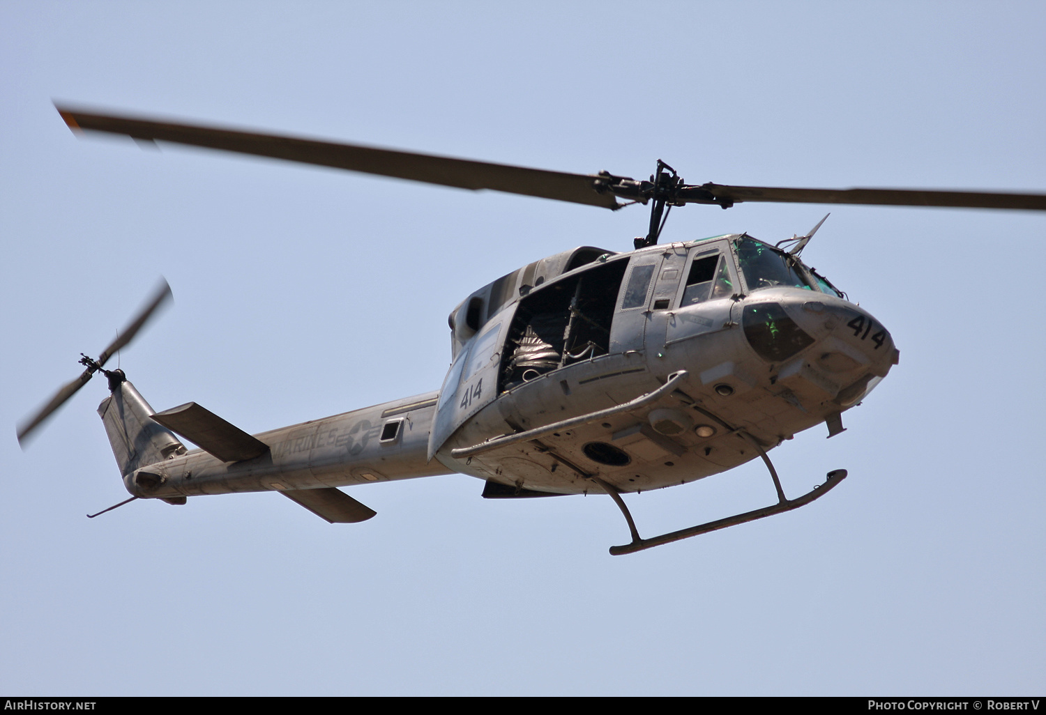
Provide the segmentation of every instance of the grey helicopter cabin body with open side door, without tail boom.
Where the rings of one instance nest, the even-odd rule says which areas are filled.
[[[731,433],[769,449],[818,423],[840,424],[896,362],[889,332],[867,312],[748,236],[579,251],[598,257],[539,285],[521,269],[506,277],[515,277],[510,300],[497,304],[508,292],[492,289],[452,316],[457,331],[477,295],[492,303],[456,344],[440,393],[429,453],[448,468],[554,493],[585,492],[593,476],[621,491],[682,484],[758,456]],[[451,455],[621,405],[680,370],[679,392],[653,408]]]

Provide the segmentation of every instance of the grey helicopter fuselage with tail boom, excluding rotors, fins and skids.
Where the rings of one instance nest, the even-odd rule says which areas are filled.
[[[896,363],[889,332],[801,261],[742,234],[614,254],[585,247],[480,289],[451,315],[439,392],[262,433],[260,457],[173,454],[138,495],[296,490],[462,472],[517,491],[620,491],[730,469],[855,406]],[[455,448],[672,395],[458,459]],[[837,426],[841,429],[841,426]],[[598,488],[595,491],[599,491]]]

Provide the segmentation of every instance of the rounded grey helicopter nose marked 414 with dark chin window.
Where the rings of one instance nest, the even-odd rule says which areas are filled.
[[[869,313],[810,291],[749,296],[742,327],[756,354],[779,366],[779,384],[816,385],[843,408],[866,395],[900,356],[890,332]]]

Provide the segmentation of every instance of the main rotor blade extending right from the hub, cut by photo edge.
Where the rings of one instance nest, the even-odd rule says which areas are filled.
[[[871,204],[877,206],[942,206],[953,208],[1023,209],[1046,211],[1046,194],[986,191],[926,191],[923,189],[804,189],[770,186],[703,184],[715,202],[746,201],[793,204]],[[686,189],[683,189],[685,192]],[[706,203],[697,200],[696,203]]]

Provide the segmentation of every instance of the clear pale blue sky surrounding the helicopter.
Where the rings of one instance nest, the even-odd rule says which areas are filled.
[[[1046,190],[1041,3],[0,5],[0,690],[25,694],[1026,694],[1046,685],[1046,217],[742,205],[665,237],[804,252],[901,364],[831,441],[772,453],[796,512],[640,554],[606,498],[493,503],[439,477],[126,498],[95,380],[14,424],[159,275],[120,355],[157,410],[249,432],[436,389],[447,314],[615,213],[131,141],[52,99],[566,171]],[[643,533],[769,504],[751,463],[633,497]]]

